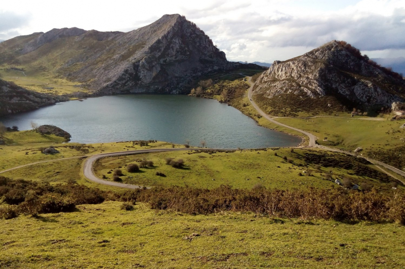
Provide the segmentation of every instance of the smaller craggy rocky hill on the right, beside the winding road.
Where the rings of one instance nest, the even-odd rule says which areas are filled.
[[[301,99],[335,96],[341,102],[391,107],[403,101],[405,80],[350,44],[332,41],[302,56],[274,61],[257,79],[254,95],[274,99],[284,94]]]

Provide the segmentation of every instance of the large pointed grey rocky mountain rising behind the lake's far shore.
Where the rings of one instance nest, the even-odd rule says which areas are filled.
[[[237,68],[194,23],[164,15],[130,32],[52,29],[0,44],[0,64],[85,85],[94,94],[180,93],[202,75]]]

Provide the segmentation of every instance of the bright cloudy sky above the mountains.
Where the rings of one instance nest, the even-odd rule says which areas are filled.
[[[371,58],[405,57],[405,0],[3,1],[0,40],[63,27],[130,31],[174,13],[231,61],[286,60],[334,39]]]

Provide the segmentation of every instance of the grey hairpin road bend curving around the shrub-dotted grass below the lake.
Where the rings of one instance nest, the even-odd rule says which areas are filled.
[[[151,153],[151,152],[164,152],[164,151],[184,151],[184,150],[235,150],[235,149],[212,149],[212,148],[157,148],[157,149],[141,149],[141,150],[131,150],[131,151],[120,151],[120,152],[112,152],[112,153],[103,153],[103,154],[98,154],[89,157],[85,165],[83,167],[83,173],[85,177],[93,182],[103,184],[103,185],[109,185],[109,186],[114,186],[114,187],[120,187],[120,188],[130,188],[130,189],[137,189],[137,188],[143,188],[144,186],[140,185],[132,185],[132,184],[125,184],[125,183],[119,183],[115,181],[107,181],[103,180],[101,178],[98,178],[94,174],[94,162],[101,158],[106,158],[106,157],[115,157],[115,156],[123,156],[123,155],[135,155],[135,154],[141,154],[141,153]],[[150,187],[146,187],[150,188]]]

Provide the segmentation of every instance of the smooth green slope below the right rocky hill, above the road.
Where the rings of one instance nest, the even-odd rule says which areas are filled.
[[[367,121],[353,118],[283,119],[277,121],[315,134],[321,145],[354,150],[384,163],[405,169],[405,123],[400,121]],[[328,141],[323,141],[328,137]]]

